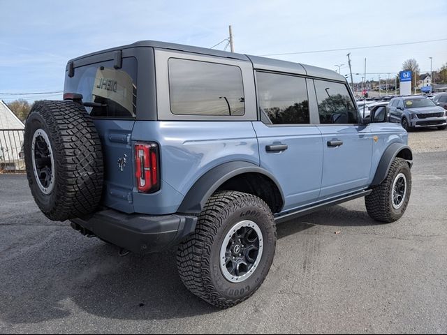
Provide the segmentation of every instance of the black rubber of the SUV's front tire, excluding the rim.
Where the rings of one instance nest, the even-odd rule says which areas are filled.
[[[404,202],[399,209],[393,207],[393,183],[399,174],[406,178],[406,194]],[[391,164],[386,179],[373,188],[372,193],[365,197],[366,209],[374,220],[391,223],[404,215],[411,194],[411,170],[403,158],[395,158]]]

